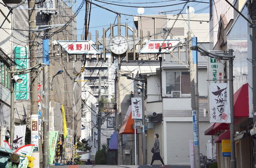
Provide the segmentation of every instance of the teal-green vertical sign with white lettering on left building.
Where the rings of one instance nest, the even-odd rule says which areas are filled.
[[[28,59],[28,47],[16,46],[14,47],[16,69],[29,68]],[[21,83],[14,83],[14,97],[16,100],[28,100],[29,99],[29,73],[18,75],[23,79]]]

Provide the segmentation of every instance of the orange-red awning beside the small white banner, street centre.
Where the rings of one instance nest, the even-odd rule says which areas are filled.
[[[132,119],[132,105],[127,109],[119,134],[134,134],[134,121]]]

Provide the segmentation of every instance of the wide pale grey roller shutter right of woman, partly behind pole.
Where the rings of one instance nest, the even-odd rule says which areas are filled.
[[[200,153],[206,155],[206,143],[211,136],[204,135],[208,122],[199,124]],[[192,122],[166,122],[167,163],[190,165],[189,141],[193,141]]]

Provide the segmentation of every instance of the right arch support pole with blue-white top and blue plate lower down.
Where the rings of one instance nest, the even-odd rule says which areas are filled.
[[[191,108],[193,116],[193,133],[194,133],[194,167],[200,167],[200,148],[199,148],[199,105],[198,105],[198,74],[197,74],[197,51],[191,51],[190,47],[196,42],[196,38],[188,36],[188,53],[189,53],[189,71],[191,87]],[[197,44],[195,44],[197,45]],[[193,54],[193,52],[196,52]]]

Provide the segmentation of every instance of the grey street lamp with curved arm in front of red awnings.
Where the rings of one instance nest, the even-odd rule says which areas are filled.
[[[234,113],[233,113],[233,107],[234,107],[234,103],[233,103],[233,59],[234,59],[234,55],[233,55],[233,50],[229,49],[227,53],[221,53],[223,55],[220,54],[216,54],[216,53],[211,53],[205,49],[203,49],[202,47],[195,45],[195,46],[191,46],[190,47],[191,50],[198,50],[201,55],[207,56],[207,57],[211,57],[211,58],[215,58],[215,59],[219,59],[219,60],[228,60],[229,61],[229,96],[230,96],[230,143],[231,143],[231,168],[236,168],[237,167],[237,160],[236,160],[236,148],[235,148],[235,144],[234,144]],[[225,55],[226,54],[226,55]]]

